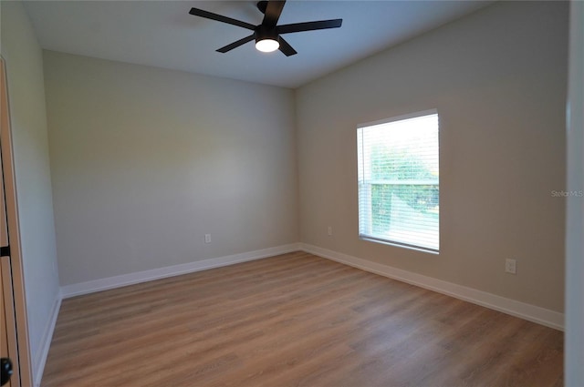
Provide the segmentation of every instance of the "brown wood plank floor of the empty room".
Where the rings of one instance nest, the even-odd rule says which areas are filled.
[[[561,386],[563,334],[296,252],[64,300],[42,386]]]

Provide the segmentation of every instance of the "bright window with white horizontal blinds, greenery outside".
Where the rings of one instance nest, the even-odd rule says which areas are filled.
[[[357,129],[359,236],[438,252],[438,114],[395,117]]]

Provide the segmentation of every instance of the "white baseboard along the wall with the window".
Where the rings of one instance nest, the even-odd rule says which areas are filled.
[[[492,293],[487,293],[486,291],[475,290],[473,288],[457,285],[445,280],[436,280],[432,277],[427,277],[412,271],[392,268],[391,266],[371,262],[370,260],[361,260],[357,257],[352,257],[337,251],[322,249],[306,243],[300,244],[300,250],[318,255],[319,257],[327,258],[328,260],[336,260],[340,263],[344,263],[361,270],[367,270],[375,274],[380,274],[393,280],[401,280],[424,289],[433,290],[448,296],[452,296],[456,299],[469,301],[474,304],[493,309],[495,311],[502,311],[506,314],[510,314],[527,321],[537,322],[538,324],[546,325],[547,327],[554,328],[559,331],[564,330],[564,313],[559,313],[558,311],[550,311],[544,308],[540,308],[536,305],[531,305],[525,302],[497,296]]]

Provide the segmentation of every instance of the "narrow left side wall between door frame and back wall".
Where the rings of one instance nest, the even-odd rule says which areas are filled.
[[[0,3],[30,354],[33,372],[38,377],[50,341],[47,334],[50,334],[53,309],[59,298],[43,57],[22,4]]]

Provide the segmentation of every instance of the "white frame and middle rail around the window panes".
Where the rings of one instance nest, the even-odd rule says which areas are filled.
[[[433,185],[437,186],[440,189],[440,178],[437,176],[433,180],[375,180],[371,178],[371,171],[370,171],[370,155],[363,149],[362,138],[363,138],[363,131],[366,130],[368,127],[375,127],[380,126],[383,124],[390,124],[393,122],[404,121],[412,118],[424,117],[424,116],[432,116],[435,115],[438,119],[438,110],[431,109],[431,110],[424,110],[421,112],[415,112],[412,114],[402,115],[398,117],[391,117],[387,119],[383,119],[380,121],[369,122],[365,124],[360,124],[357,127],[357,157],[358,157],[358,208],[359,208],[359,238],[363,240],[370,240],[374,242],[379,242],[383,244],[389,244],[392,246],[399,246],[406,249],[412,250],[422,250],[425,252],[430,252],[434,254],[438,254],[440,251],[440,215],[438,214],[438,229],[437,229],[437,241],[435,245],[433,244],[430,246],[429,244],[424,244],[420,242],[408,242],[404,239],[399,239],[390,236],[384,236],[380,234],[375,234],[373,232],[372,227],[372,219],[373,219],[373,209],[372,209],[372,200],[371,200],[371,187],[374,184],[391,184],[391,185]],[[437,153],[439,155],[439,137],[440,137],[440,124],[438,124],[438,141],[436,146],[438,147]],[[439,157],[438,157],[439,158]],[[440,194],[438,194],[440,197]],[[390,220],[391,223],[391,220]],[[407,238],[406,238],[407,239]]]

